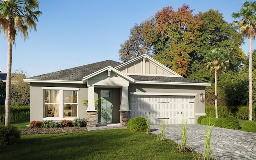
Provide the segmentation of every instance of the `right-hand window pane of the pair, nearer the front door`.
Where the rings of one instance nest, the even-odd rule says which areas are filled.
[[[77,116],[77,91],[64,90],[63,91],[63,117]]]

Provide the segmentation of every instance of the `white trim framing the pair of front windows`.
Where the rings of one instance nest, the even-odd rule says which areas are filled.
[[[44,107],[43,107],[43,120],[74,120],[75,118],[78,118],[78,114],[77,114],[77,116],[63,117],[63,106],[64,106],[63,90],[80,90],[80,88],[74,88],[74,87],[42,87],[42,90],[59,90],[59,103],[58,103],[59,104],[59,117],[44,117]],[[60,113],[62,113],[62,114],[60,114]],[[62,115],[62,116],[60,116],[60,115]]]

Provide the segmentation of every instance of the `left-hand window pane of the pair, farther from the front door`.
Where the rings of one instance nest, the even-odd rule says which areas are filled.
[[[58,117],[59,105],[59,91],[44,90],[44,117]]]

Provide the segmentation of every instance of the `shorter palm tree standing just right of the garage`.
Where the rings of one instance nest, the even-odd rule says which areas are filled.
[[[211,52],[207,53],[204,57],[206,62],[206,69],[210,69],[210,72],[214,72],[214,100],[215,100],[215,115],[218,118],[218,105],[217,105],[217,78],[220,72],[226,70],[229,63],[228,53],[220,48],[214,48]]]

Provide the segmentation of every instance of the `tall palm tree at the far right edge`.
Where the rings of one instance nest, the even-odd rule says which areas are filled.
[[[252,120],[252,40],[255,38],[256,24],[256,2],[245,2],[238,13],[232,14],[233,18],[242,18],[239,22],[234,21],[235,26],[239,26],[239,31],[244,37],[250,39],[249,50],[249,120]]]

